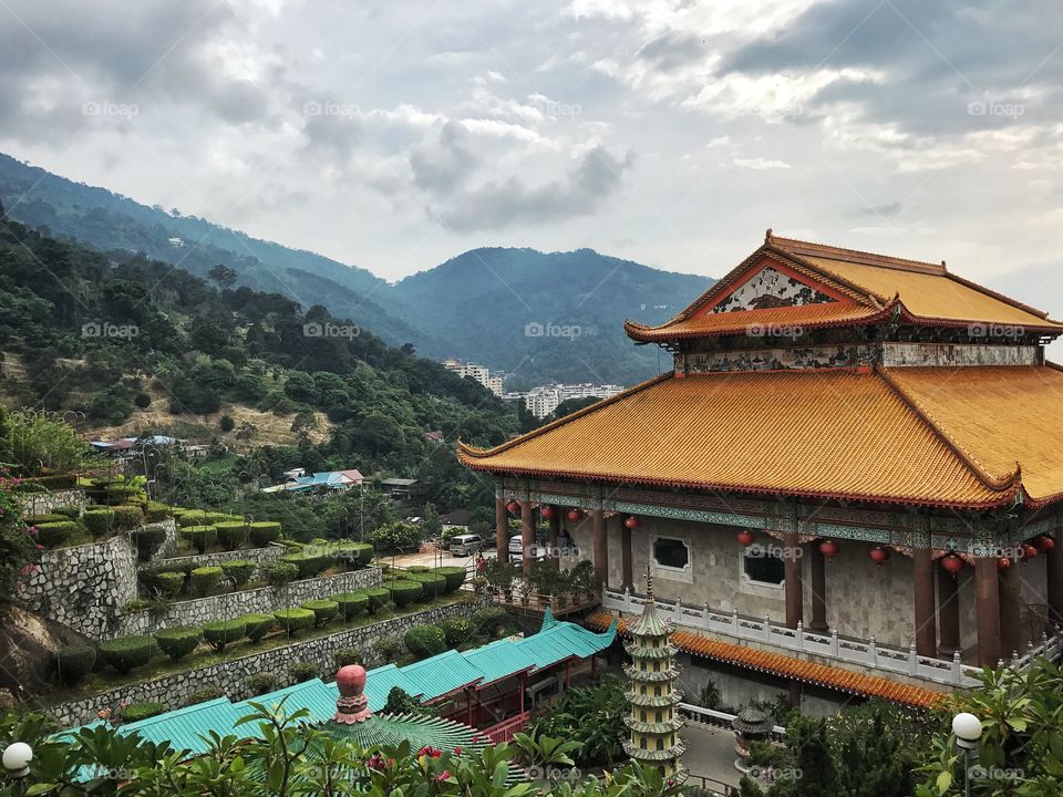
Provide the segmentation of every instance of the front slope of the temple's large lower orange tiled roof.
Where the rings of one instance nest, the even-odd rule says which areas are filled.
[[[1051,417],[1054,406],[1039,412]],[[1018,459],[1013,427],[1023,418],[993,420],[983,445]],[[1014,462],[982,466],[972,452],[880,373],[838,369],[669,373],[496,448],[461,444],[458,456],[497,474],[956,508],[1012,503]]]

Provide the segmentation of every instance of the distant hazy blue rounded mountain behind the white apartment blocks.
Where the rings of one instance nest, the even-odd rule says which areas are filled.
[[[667,321],[712,283],[592,249],[488,248],[407,277],[394,294],[432,338],[421,353],[504,370],[513,390],[550,380],[630,385],[660,373],[668,354],[636,346],[623,320]]]

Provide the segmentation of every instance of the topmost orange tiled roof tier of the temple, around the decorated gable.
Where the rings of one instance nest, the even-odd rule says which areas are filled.
[[[625,329],[641,342],[664,342],[711,334],[735,334],[752,321],[741,320],[750,312],[706,313],[716,301],[741,284],[751,268],[783,266],[809,284],[828,290],[836,302],[848,306],[824,310],[823,304],[788,308],[785,323],[802,327],[876,323],[895,307],[909,323],[961,327],[970,323],[1016,325],[1046,334],[1063,333],[1063,324],[1047,314],[979,284],[957,277],[943,263],[905,260],[885,255],[842,249],[822,244],[768,236],[764,245],[716,282],[671,321],[647,327],[633,321]],[[723,320],[705,315],[737,315]],[[770,322],[775,323],[775,322]]]

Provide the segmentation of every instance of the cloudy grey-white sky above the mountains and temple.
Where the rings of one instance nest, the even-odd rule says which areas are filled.
[[[0,149],[389,279],[773,227],[1063,317],[1061,86],[1053,0],[0,0]]]

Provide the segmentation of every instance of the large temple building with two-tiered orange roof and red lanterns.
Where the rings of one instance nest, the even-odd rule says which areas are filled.
[[[637,615],[649,567],[690,661],[794,700],[926,704],[1059,652],[1063,373],[1045,345],[1063,324],[943,262],[770,230],[674,319],[625,328],[672,369],[460,445],[496,479],[500,557],[507,505],[526,546],[554,507],[550,545],[592,552],[603,582],[591,624]]]

